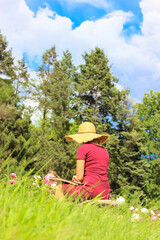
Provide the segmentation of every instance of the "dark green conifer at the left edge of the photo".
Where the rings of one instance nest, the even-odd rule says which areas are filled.
[[[27,152],[30,139],[30,116],[24,112],[24,105],[19,104],[16,90],[16,72],[14,58],[8,43],[0,34],[0,159],[8,156],[20,162]],[[25,69],[21,69],[21,72]]]

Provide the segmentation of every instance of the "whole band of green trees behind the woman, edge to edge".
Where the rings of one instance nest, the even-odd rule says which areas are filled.
[[[26,171],[55,170],[71,178],[78,146],[64,136],[91,121],[98,133],[110,134],[104,146],[112,194],[159,198],[160,93],[151,91],[132,106],[129,91],[117,88],[118,79],[98,47],[85,52],[77,68],[68,50],[59,57],[51,47],[42,55],[33,84],[24,59],[15,63],[7,46],[0,34],[0,163],[9,159],[10,168],[25,163]],[[37,126],[26,99],[38,103]]]

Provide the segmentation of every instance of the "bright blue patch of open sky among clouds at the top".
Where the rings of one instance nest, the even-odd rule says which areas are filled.
[[[142,21],[142,13],[139,7],[139,0],[126,1],[126,0],[110,0],[106,1],[109,3],[108,9],[104,9],[103,6],[96,7],[89,3],[85,2],[77,2],[74,4],[67,3],[67,1],[59,1],[59,0],[25,0],[26,4],[29,8],[36,14],[38,9],[44,8],[46,4],[55,11],[57,14],[61,16],[68,17],[73,22],[73,28],[79,26],[82,22],[86,20],[96,20],[106,13],[109,13],[113,10],[124,10],[131,11],[135,14],[135,17],[131,24],[126,24],[125,29],[128,26],[135,26],[136,30],[139,30],[139,25]]]

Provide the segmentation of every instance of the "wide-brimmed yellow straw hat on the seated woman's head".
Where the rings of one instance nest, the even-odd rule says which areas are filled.
[[[109,135],[97,134],[96,128],[91,122],[84,122],[78,128],[78,134],[65,136],[68,141],[75,141],[77,143],[90,142],[93,139],[99,139],[100,143],[105,143]]]

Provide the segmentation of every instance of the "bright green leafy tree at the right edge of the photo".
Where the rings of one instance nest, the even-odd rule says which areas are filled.
[[[143,103],[134,106],[135,113],[140,120],[141,136],[146,154],[143,158],[150,167],[147,191],[150,198],[159,198],[160,172],[160,92],[145,93]]]

